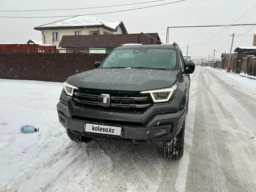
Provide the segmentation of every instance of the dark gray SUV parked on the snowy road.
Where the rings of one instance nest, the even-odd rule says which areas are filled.
[[[180,159],[195,65],[177,44],[122,45],[95,68],[63,83],[57,110],[67,136],[163,142],[165,157]]]

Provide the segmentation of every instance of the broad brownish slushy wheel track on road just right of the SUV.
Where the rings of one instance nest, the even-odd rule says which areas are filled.
[[[191,161],[187,173],[186,189],[193,191],[225,191],[223,189],[222,170],[216,162],[216,141],[212,137],[214,129],[208,98],[205,97],[207,87],[202,83],[202,74],[199,69],[197,76],[197,100],[195,108],[193,147],[191,148]],[[218,144],[218,143],[217,143]],[[196,175],[196,176],[195,176]],[[202,183],[204,181],[204,183]]]

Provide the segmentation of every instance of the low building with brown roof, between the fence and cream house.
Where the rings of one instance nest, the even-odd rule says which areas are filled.
[[[158,33],[113,35],[65,35],[59,47],[66,53],[108,54],[121,44],[161,44]]]

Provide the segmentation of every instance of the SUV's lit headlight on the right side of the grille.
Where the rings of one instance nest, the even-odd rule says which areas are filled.
[[[141,91],[140,93],[150,93],[154,102],[167,102],[172,97],[173,92],[177,89],[174,85],[170,88],[161,88],[159,90]]]

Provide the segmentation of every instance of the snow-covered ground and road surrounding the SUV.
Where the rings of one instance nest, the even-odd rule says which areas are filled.
[[[59,124],[60,83],[0,80],[0,191],[255,191],[256,80],[197,67],[180,161],[161,146],[77,144]],[[21,125],[40,131],[21,134]]]

